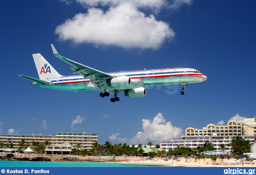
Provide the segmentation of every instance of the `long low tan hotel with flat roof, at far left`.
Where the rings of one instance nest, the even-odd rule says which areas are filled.
[[[13,144],[13,148],[18,148],[20,140],[24,139],[26,144],[32,145],[32,142],[44,143],[48,140],[49,144],[64,144],[69,142],[72,146],[80,144],[82,149],[92,149],[93,144],[98,141],[97,133],[75,133],[75,132],[57,132],[56,136],[40,135],[0,135],[0,142],[4,144]]]

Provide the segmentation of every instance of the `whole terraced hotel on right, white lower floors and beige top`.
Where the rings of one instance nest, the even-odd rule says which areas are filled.
[[[220,150],[220,144],[226,146],[225,151],[231,151],[232,139],[241,136],[244,140],[254,142],[256,135],[255,118],[244,118],[244,121],[230,120],[227,124],[208,124],[203,129],[186,128],[186,136],[182,139],[172,139],[160,144],[161,150],[174,150],[177,146],[196,148],[203,146],[205,142],[211,142],[216,150]]]

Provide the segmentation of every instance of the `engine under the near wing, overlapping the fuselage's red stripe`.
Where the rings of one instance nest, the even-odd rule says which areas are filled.
[[[113,79],[108,79],[106,81],[107,85],[108,86],[111,86],[111,87],[123,87],[123,88],[126,88],[126,87],[129,87],[131,85],[131,78],[130,77],[115,77]]]

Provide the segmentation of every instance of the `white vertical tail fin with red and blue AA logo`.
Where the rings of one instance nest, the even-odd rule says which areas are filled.
[[[61,75],[44,59],[40,53],[33,54],[36,70],[40,80],[54,79]]]

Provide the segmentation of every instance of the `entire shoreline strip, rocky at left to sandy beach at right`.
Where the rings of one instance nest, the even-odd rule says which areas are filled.
[[[6,160],[6,154],[1,154],[2,160]],[[147,160],[148,157],[123,157],[123,156],[83,156],[83,155],[45,155],[45,154],[14,154],[9,159],[20,161],[78,161],[78,162],[106,162],[106,163],[124,163],[141,165],[166,165],[182,167],[256,167],[256,162],[236,161],[235,159],[217,159],[212,161],[210,158],[186,159],[180,158],[180,161],[154,158]],[[142,160],[143,159],[143,160]],[[255,160],[254,160],[255,161]]]

